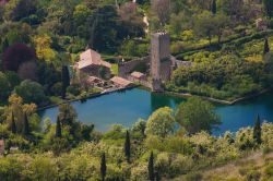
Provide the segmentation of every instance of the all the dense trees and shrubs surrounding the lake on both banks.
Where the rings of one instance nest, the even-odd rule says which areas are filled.
[[[273,149],[273,124],[259,116],[253,128],[211,135],[221,119],[195,97],[105,133],[83,124],[69,104],[57,120],[40,120],[38,107],[99,92],[70,85],[70,65],[86,47],[117,69],[121,58],[146,56],[157,31],[169,32],[177,59],[192,62],[174,72],[167,90],[230,100],[272,87],[272,0],[151,2],[0,1],[0,180],[201,180],[204,169]],[[266,29],[256,27],[258,17]],[[273,179],[272,161],[262,168],[232,179]]]

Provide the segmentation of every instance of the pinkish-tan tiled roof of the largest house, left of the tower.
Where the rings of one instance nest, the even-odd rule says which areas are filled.
[[[86,51],[80,55],[80,61],[78,62],[78,68],[83,69],[92,64],[111,68],[110,63],[102,60],[102,57],[98,52],[92,49],[87,49]]]

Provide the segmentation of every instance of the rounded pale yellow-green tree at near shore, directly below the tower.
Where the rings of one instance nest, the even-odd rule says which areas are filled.
[[[175,131],[173,110],[168,107],[159,108],[147,120],[146,133],[166,137]]]

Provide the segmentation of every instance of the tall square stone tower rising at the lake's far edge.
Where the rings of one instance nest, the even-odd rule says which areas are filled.
[[[155,33],[151,40],[151,76],[154,92],[162,92],[162,83],[171,75],[170,38],[167,33]]]

